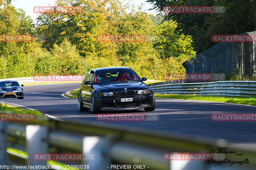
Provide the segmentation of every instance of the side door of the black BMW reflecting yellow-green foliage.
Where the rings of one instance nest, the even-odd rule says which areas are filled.
[[[92,80],[93,80],[93,76],[94,76],[94,71],[90,71],[88,73],[88,77],[85,81],[90,81],[90,83],[92,84]],[[87,106],[91,105],[91,95],[92,95],[92,85],[83,85],[83,101],[84,104]]]

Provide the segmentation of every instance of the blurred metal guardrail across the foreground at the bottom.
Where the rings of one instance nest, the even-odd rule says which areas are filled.
[[[109,170],[111,165],[146,165],[154,170],[249,170],[256,166],[256,150],[228,145],[225,140],[207,140],[195,136],[166,135],[157,131],[95,125],[37,121],[0,121],[0,166],[27,165],[46,166],[47,161],[35,161],[36,153],[83,153],[94,154],[95,160],[60,161],[68,165],[89,165],[90,170]],[[243,145],[244,146],[244,145]],[[6,152],[7,147],[26,151],[27,157]],[[250,163],[232,166],[203,164],[200,160],[164,160],[163,154],[170,152],[209,153],[210,149],[227,147],[229,151],[243,156],[226,154],[232,161]],[[147,168],[148,167],[148,168]],[[253,167],[253,168],[252,168]]]

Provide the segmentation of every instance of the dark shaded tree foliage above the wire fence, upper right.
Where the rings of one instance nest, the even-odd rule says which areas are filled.
[[[159,12],[164,6],[224,6],[223,14],[165,14],[165,21],[176,21],[176,31],[185,35],[191,35],[195,42],[196,53],[199,54],[214,46],[216,42],[211,41],[213,34],[242,34],[256,30],[256,1],[248,0],[147,0],[154,4]]]

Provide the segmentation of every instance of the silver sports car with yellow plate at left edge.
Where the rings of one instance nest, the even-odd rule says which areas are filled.
[[[0,81],[0,99],[23,99],[23,87],[17,81]]]

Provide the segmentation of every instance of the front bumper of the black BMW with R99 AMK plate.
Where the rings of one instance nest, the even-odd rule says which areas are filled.
[[[121,102],[122,98],[132,98],[132,101]],[[151,107],[153,102],[153,94],[122,98],[96,98],[96,103],[99,110],[136,110]]]

